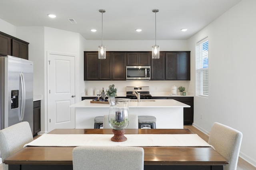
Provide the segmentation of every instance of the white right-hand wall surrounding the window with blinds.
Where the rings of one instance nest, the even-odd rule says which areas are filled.
[[[209,98],[194,98],[194,125],[220,122],[243,133],[240,156],[256,166],[256,1],[242,0],[188,40],[195,89],[195,44],[208,36]],[[200,119],[202,115],[202,119]]]

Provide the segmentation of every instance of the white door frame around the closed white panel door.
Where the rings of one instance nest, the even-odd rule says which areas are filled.
[[[49,113],[49,106],[50,106],[50,104],[49,104],[49,102],[50,102],[50,93],[49,93],[49,90],[50,90],[50,67],[49,67],[49,61],[50,61],[50,55],[64,55],[64,56],[69,56],[69,57],[74,57],[74,64],[75,64],[75,66],[74,66],[74,72],[75,72],[75,84],[74,84],[74,87],[75,87],[75,95],[76,95],[76,98],[75,98],[75,103],[77,102],[77,98],[79,97],[77,94],[76,94],[76,92],[77,92],[77,90],[76,90],[76,82],[77,82],[77,78],[76,78],[76,74],[77,74],[77,72],[76,72],[76,55],[75,54],[69,54],[69,53],[58,53],[58,52],[52,52],[52,51],[47,51],[47,61],[46,61],[46,66],[47,66],[47,91],[46,91],[46,93],[47,93],[47,105],[46,105],[46,107],[47,107],[47,111],[46,111],[46,113],[47,113],[47,115],[45,115],[45,119],[44,119],[44,121],[46,121],[46,126],[47,126],[47,129],[45,129],[46,131],[45,131],[45,133],[48,133],[49,132],[49,129],[50,129],[50,119],[49,119],[49,117],[50,117],[50,113]],[[75,110],[74,110],[74,112],[75,112]],[[41,119],[42,120],[42,119]]]

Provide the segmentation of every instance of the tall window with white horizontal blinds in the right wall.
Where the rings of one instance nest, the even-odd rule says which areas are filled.
[[[208,97],[208,38],[196,43],[196,96]]]

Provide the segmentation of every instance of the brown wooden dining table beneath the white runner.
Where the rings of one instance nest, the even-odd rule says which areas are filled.
[[[113,134],[112,129],[54,129],[49,134]],[[125,134],[193,134],[188,129],[126,129]],[[9,170],[72,170],[74,147],[27,146],[3,162]],[[228,160],[212,147],[143,147],[144,170],[223,170]],[[86,163],[86,162],[85,162]]]

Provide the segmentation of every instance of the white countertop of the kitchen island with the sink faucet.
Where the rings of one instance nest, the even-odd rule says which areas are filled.
[[[76,104],[70,105],[70,107],[110,107],[109,104],[95,104],[90,103],[91,100],[82,100]],[[137,102],[137,100],[131,100],[129,107],[190,107],[187,104],[178,102],[173,99],[156,99],[154,102],[143,102],[148,100],[141,100],[142,102]]]

